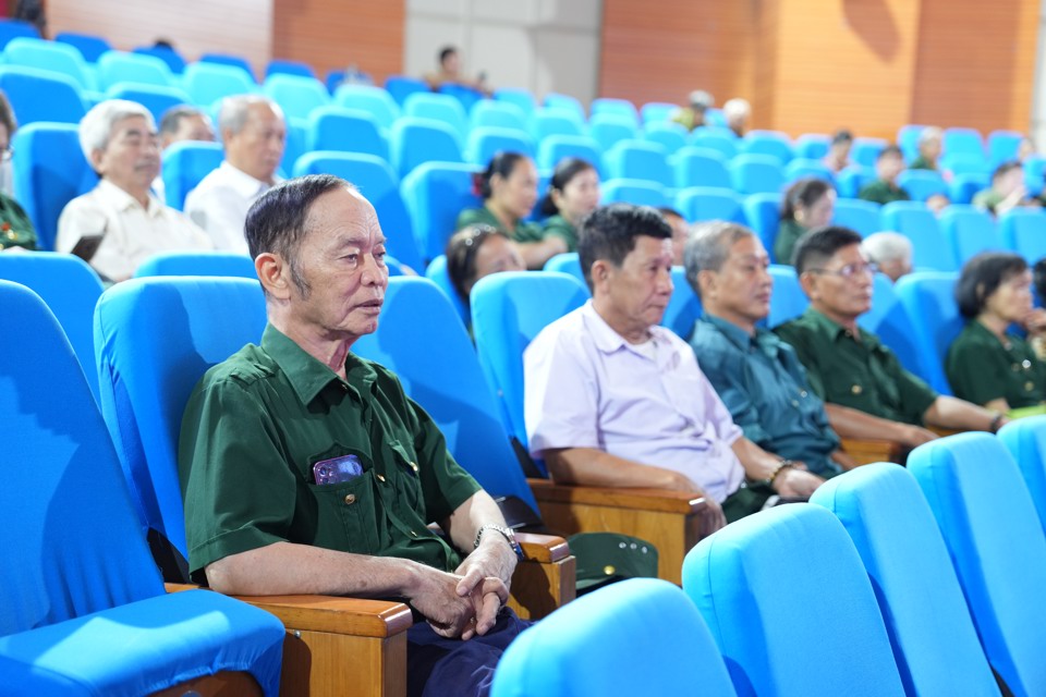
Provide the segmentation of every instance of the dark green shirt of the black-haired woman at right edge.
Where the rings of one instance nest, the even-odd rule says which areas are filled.
[[[1001,398],[1014,409],[1046,400],[1046,364],[1020,338],[1007,340],[1009,347],[981,322],[966,325],[945,358],[956,396],[981,405]]]

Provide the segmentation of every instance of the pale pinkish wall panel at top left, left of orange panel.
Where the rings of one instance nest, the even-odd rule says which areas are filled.
[[[47,0],[48,29],[96,34],[114,48],[171,40],[190,60],[204,52],[243,56],[255,71],[271,54],[271,0]]]

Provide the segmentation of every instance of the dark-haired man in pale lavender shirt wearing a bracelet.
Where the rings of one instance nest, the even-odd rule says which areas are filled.
[[[690,345],[658,326],[671,241],[653,208],[615,204],[585,219],[579,256],[593,299],[527,346],[526,431],[556,481],[703,492],[715,529],[775,494],[808,498],[823,479],[745,438]]]

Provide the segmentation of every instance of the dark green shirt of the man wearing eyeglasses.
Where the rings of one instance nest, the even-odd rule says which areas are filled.
[[[825,402],[891,421],[922,425],[937,399],[929,386],[901,367],[878,337],[861,339],[813,307],[775,329],[806,366],[810,386]]]

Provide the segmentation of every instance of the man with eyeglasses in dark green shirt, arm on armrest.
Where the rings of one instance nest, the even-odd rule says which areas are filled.
[[[937,394],[901,367],[878,337],[858,327],[872,307],[875,271],[856,232],[812,231],[795,249],[795,272],[810,308],[775,330],[806,367],[836,432],[914,448],[936,438],[924,426],[998,430],[1005,416]]]

